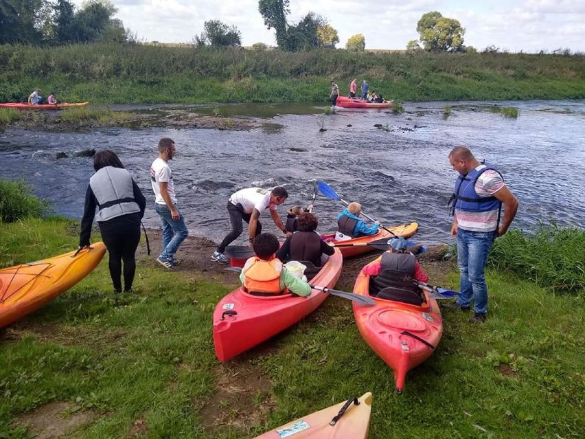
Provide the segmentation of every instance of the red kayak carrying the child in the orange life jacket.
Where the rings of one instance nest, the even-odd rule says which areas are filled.
[[[343,256],[336,249],[311,280],[314,286],[333,288],[341,274]],[[214,346],[219,361],[227,361],[253,348],[312,313],[329,294],[313,289],[311,295],[257,296],[242,287],[222,298],[214,311]]]

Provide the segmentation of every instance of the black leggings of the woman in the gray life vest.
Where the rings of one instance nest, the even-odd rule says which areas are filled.
[[[110,254],[110,276],[115,291],[122,291],[122,260],[124,260],[124,291],[130,291],[136,273],[135,254],[140,241],[140,217],[130,214],[99,223],[102,240]]]

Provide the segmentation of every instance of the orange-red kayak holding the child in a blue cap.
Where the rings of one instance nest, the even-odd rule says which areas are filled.
[[[370,262],[370,264],[380,260]],[[375,306],[354,303],[356,325],[366,343],[394,372],[396,392],[402,393],[406,372],[431,357],[443,335],[437,300],[424,294],[421,306],[369,295],[370,276],[360,271],[354,293],[371,297]]]

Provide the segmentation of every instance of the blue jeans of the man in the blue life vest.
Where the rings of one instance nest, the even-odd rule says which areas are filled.
[[[457,265],[461,273],[457,303],[471,306],[473,300],[476,313],[488,313],[488,285],[483,272],[495,238],[496,232],[457,229]]]

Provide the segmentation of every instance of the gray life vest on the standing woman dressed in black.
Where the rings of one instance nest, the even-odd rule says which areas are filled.
[[[134,199],[132,177],[126,169],[106,166],[91,176],[89,186],[100,207],[98,221],[140,212]]]

